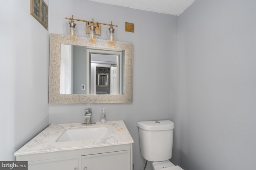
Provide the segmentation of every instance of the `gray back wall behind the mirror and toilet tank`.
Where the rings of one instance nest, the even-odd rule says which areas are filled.
[[[61,8],[60,8],[61,4]],[[119,6],[100,4],[86,0],[50,0],[50,33],[66,34],[65,17],[92,20],[118,25],[115,27],[118,41],[134,44],[134,92],[132,104],[51,104],[50,123],[84,121],[86,108],[92,108],[92,121],[100,121],[102,108],[106,108],[107,120],[124,120],[134,139],[134,170],[144,168],[140,154],[137,121],[171,119],[175,123],[174,152],[172,161],[179,163],[178,120],[178,17]],[[121,17],[120,17],[121,16]],[[134,33],[125,32],[125,22],[135,24]],[[76,22],[79,36],[85,36],[85,23]],[[162,25],[162,35],[156,29]],[[100,39],[106,39],[102,25]],[[151,71],[152,66],[155,67]],[[147,170],[151,165],[148,163]]]

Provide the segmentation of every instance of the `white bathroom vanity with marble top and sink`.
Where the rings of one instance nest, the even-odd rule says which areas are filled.
[[[123,121],[53,124],[14,155],[28,170],[132,170],[132,144]]]

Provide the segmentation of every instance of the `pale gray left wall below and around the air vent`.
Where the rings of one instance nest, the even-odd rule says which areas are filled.
[[[49,33],[29,0],[1,1],[0,16],[0,160],[14,160],[49,125]]]

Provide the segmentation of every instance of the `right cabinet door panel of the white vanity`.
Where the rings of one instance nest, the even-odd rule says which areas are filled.
[[[131,170],[130,150],[82,156],[82,170]],[[87,169],[86,169],[86,168]]]

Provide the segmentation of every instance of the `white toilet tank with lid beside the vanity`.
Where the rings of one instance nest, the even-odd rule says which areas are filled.
[[[148,161],[158,162],[172,158],[174,123],[170,120],[138,121],[140,152]]]

